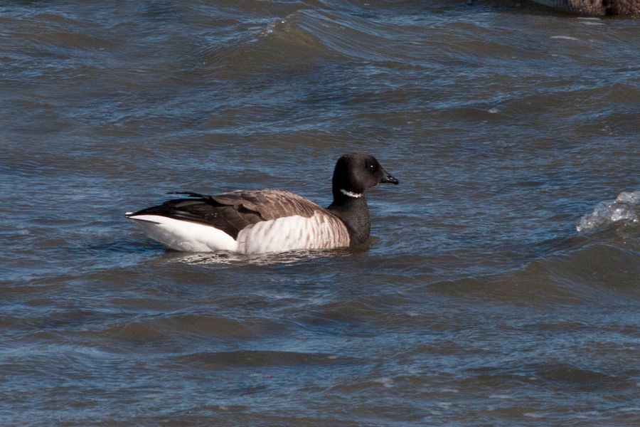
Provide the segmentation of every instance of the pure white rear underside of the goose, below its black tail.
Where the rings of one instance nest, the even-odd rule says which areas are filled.
[[[158,215],[128,216],[149,238],[186,252],[238,252],[238,242],[212,226]]]

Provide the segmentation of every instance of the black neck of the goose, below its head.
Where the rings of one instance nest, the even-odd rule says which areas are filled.
[[[334,203],[327,209],[340,218],[346,226],[351,246],[368,241],[371,221],[364,194],[360,197],[351,197],[346,196],[339,189],[338,191],[334,189]]]

